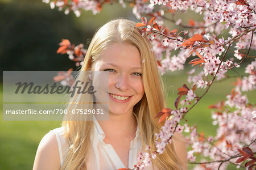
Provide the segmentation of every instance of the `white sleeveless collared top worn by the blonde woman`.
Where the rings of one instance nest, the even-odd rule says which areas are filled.
[[[136,117],[136,116],[135,116]],[[137,117],[136,117],[137,118]],[[125,168],[122,160],[119,158],[114,148],[110,144],[104,142],[105,134],[98,124],[96,118],[93,120],[93,131],[90,138],[92,142],[92,153],[89,155],[89,160],[86,162],[87,169],[93,170],[117,170]],[[137,121],[138,122],[138,121]],[[60,165],[62,166],[67,157],[68,143],[65,139],[64,127],[51,130],[55,133],[60,154]],[[133,169],[137,164],[137,156],[142,150],[141,136],[139,134],[139,126],[137,126],[136,136],[130,143],[129,151],[129,168]],[[147,167],[147,169],[152,169]]]

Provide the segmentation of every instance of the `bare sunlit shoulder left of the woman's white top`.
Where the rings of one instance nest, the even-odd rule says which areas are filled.
[[[55,133],[49,131],[42,138],[36,151],[33,170],[60,169],[60,155]]]

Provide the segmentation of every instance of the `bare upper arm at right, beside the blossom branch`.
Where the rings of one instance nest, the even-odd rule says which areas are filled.
[[[185,142],[185,137],[181,133],[174,134],[174,145],[178,158],[183,164],[183,169],[187,169],[187,146]]]

